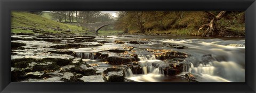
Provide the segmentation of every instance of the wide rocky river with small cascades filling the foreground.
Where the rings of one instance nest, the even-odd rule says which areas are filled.
[[[70,57],[71,54],[59,54],[55,50],[68,50],[72,52],[75,59],[82,58],[87,64],[92,65],[91,69],[97,70],[96,73],[102,74],[108,67],[120,66],[125,74],[126,80],[137,82],[188,82],[184,75],[192,74],[195,81],[198,82],[245,82],[245,40],[243,38],[205,38],[205,37],[178,37],[178,36],[92,36],[90,40],[76,41],[73,37],[54,37],[60,38],[59,42],[50,43],[50,38],[46,36],[32,36],[34,40],[26,35],[13,35],[12,42],[17,41],[24,43],[25,49],[12,50],[12,60],[15,58],[45,58],[45,57]],[[15,38],[15,40],[13,39]],[[29,37],[30,38],[30,37]],[[53,37],[51,37],[53,38]],[[81,39],[81,37],[79,37]],[[87,37],[86,37],[87,38]],[[54,39],[54,40],[55,40]],[[82,38],[84,39],[84,38]],[[46,41],[42,41],[46,40]],[[100,41],[103,41],[100,43]],[[118,42],[119,41],[119,42]],[[121,42],[121,43],[120,43]],[[79,47],[64,47],[59,45],[65,44],[87,44]],[[101,44],[100,46],[98,44]],[[92,46],[91,46],[92,45]],[[94,46],[95,45],[95,46]],[[57,47],[58,46],[58,47]],[[35,48],[37,47],[37,48]],[[55,49],[59,48],[59,49]],[[111,52],[111,50],[114,52]],[[43,52],[55,52],[57,54],[47,54]],[[118,51],[116,51],[118,50]],[[106,52],[108,51],[108,52]],[[125,56],[130,58],[136,55],[136,60],[130,64],[116,64],[107,62],[109,60],[99,60],[97,53],[107,53],[109,57]],[[165,52],[164,55],[161,52]],[[160,53],[160,54],[159,54]],[[172,55],[167,55],[174,53]],[[176,55],[178,53],[179,55]],[[158,55],[159,54],[159,55]],[[53,56],[54,55],[54,56]],[[166,58],[163,56],[167,56]],[[172,57],[170,57],[172,56]],[[175,56],[175,58],[173,57]],[[70,58],[71,58],[70,57]],[[133,56],[132,56],[133,57]],[[133,58],[132,58],[133,59]],[[130,60],[129,60],[130,61]],[[33,64],[29,63],[29,66]],[[38,64],[38,63],[37,63]],[[37,65],[31,65],[31,67]],[[64,64],[64,68],[74,67],[72,64]],[[59,64],[58,64],[59,65]],[[62,64],[61,64],[62,65]],[[178,65],[178,66],[177,66]],[[69,67],[70,66],[70,67]],[[139,67],[138,67],[139,66]],[[170,66],[170,67],[169,67]],[[182,67],[180,67],[182,66]],[[12,66],[15,69],[17,66]],[[82,66],[81,66],[82,67]],[[134,69],[138,67],[139,69]],[[173,71],[176,67],[182,70]],[[87,67],[85,67],[87,69]],[[167,70],[166,70],[167,68]],[[178,69],[179,69],[178,68]],[[170,70],[171,69],[171,70]],[[136,71],[134,71],[136,70]],[[138,71],[137,71],[138,70]],[[177,69],[175,69],[177,70]],[[55,70],[54,70],[55,71]],[[35,72],[35,71],[32,71]],[[60,73],[56,70],[53,73]],[[29,72],[31,73],[31,71]],[[41,72],[37,72],[41,73]],[[68,74],[68,75],[67,75]],[[83,76],[79,79],[87,82],[101,82],[101,75]],[[72,71],[67,70],[62,75],[71,77],[75,75]],[[25,82],[31,81],[61,81],[62,77],[52,76],[49,79],[26,79]]]

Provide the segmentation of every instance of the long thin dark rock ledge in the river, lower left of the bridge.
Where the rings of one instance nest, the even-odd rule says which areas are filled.
[[[102,46],[101,44],[64,44],[64,45],[54,45],[50,46],[50,48],[57,48],[57,49],[65,49],[65,48],[81,48],[81,47],[95,47],[95,46]]]

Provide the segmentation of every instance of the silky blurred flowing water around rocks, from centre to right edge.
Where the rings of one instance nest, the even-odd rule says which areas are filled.
[[[91,48],[70,49],[77,51],[77,56],[85,59],[93,60],[94,52],[113,48],[123,48],[125,46],[136,47],[133,50],[138,54],[138,64],[142,67],[142,74],[132,73],[132,69],[123,66],[122,69],[127,79],[134,81],[150,81],[150,82],[186,82],[181,79],[180,75],[192,73],[196,75],[199,82],[245,82],[245,40],[241,38],[201,38],[201,37],[171,37],[171,36],[133,36],[124,38],[118,36],[109,36],[109,38],[95,38],[96,40],[108,41],[130,41],[133,39],[147,39],[152,43],[149,44],[113,44],[105,43],[103,46]],[[165,47],[163,43],[177,44],[186,46],[185,49],[177,49]],[[183,63],[183,72],[166,76],[159,68],[166,65],[162,60],[157,60],[156,56],[150,54],[145,49],[171,49],[184,52],[190,56],[185,58]],[[79,53],[81,52],[81,53]],[[108,65],[112,66],[112,65]],[[168,71],[168,70],[167,70]],[[169,72],[167,72],[169,73]]]

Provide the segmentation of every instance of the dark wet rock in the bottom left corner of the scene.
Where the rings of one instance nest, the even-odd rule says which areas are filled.
[[[13,69],[11,71],[11,81],[17,82],[26,79],[26,72],[21,69]]]

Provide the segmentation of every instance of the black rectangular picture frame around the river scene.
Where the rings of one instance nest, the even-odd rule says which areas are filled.
[[[255,92],[255,0],[1,0],[0,92]],[[245,11],[245,82],[11,82],[11,11]]]

